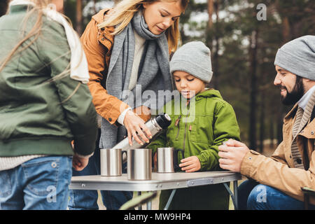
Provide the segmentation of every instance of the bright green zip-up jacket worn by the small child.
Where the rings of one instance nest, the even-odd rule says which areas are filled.
[[[181,102],[175,104],[174,99],[169,102],[164,111],[167,113],[172,109],[172,113],[168,113],[172,123],[148,147],[153,149],[153,153],[159,147],[181,148],[185,158],[197,155],[201,171],[217,170],[218,146],[228,139],[240,139],[235,112],[218,90],[206,90],[197,94],[195,110],[192,108],[193,102],[192,100],[188,106],[189,112],[181,109]],[[178,108],[180,113],[176,112]]]

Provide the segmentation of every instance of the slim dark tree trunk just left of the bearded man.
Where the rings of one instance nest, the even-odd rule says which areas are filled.
[[[257,148],[256,143],[256,98],[257,98],[257,48],[258,48],[258,29],[252,31],[251,41],[249,46],[249,73],[251,76],[251,90],[250,90],[250,115],[249,115],[249,146],[255,150]]]

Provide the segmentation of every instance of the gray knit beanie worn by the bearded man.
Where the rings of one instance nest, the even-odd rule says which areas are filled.
[[[276,53],[274,65],[315,80],[315,36],[302,36],[283,45]]]

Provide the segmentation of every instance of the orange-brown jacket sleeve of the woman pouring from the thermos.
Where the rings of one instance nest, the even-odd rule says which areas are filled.
[[[108,49],[102,43],[99,43],[98,36],[97,22],[92,19],[81,36],[90,74],[90,81],[87,85],[90,88],[93,97],[92,102],[97,113],[113,125],[120,113],[129,106],[109,94],[102,85],[106,80],[107,64],[105,57]]]

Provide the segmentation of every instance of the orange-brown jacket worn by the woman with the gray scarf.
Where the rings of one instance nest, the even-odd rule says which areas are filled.
[[[81,36],[81,42],[89,67],[90,82],[87,85],[93,97],[92,102],[97,113],[113,125],[116,123],[120,113],[128,108],[128,105],[108,94],[105,88],[106,74],[114,41],[114,36],[111,35],[111,32],[114,30],[114,27],[98,29],[97,25],[104,21],[108,11],[109,9],[103,9],[92,16],[92,20]],[[137,110],[137,114],[146,121],[151,116],[147,112],[144,113],[144,110],[147,110],[147,108],[143,106],[142,111]]]

